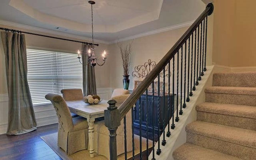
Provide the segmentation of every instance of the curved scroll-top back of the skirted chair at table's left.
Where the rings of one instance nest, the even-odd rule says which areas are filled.
[[[72,129],[74,126],[72,116],[63,97],[57,94],[46,94],[45,98],[50,100],[54,106],[58,116],[59,127],[61,127],[65,132]]]

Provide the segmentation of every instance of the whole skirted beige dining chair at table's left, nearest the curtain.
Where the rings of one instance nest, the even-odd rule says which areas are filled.
[[[68,155],[88,148],[88,123],[81,116],[72,118],[66,101],[57,94],[46,94],[58,116],[58,147]]]

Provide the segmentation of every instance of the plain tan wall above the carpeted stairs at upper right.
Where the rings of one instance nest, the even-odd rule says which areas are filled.
[[[255,6],[255,0],[214,0],[213,62],[256,66]]]

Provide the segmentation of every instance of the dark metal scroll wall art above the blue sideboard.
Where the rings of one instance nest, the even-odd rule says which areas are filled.
[[[138,65],[134,67],[134,71],[132,72],[132,76],[133,77],[137,77],[137,78],[145,78],[146,76],[148,76],[148,74],[153,70],[153,68],[156,66],[156,62],[155,61],[151,61],[150,59],[148,59],[148,62],[145,62],[144,65]],[[169,77],[169,75],[171,76],[171,73],[168,73],[168,67],[166,66],[164,68],[165,70],[165,74],[162,72],[160,72],[160,77],[164,78],[165,77]]]

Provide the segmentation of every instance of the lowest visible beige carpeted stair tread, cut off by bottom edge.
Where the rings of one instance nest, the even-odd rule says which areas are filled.
[[[172,156],[174,160],[243,160],[190,143],[178,147]]]

